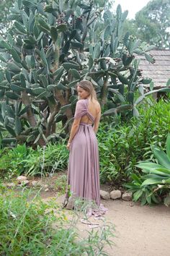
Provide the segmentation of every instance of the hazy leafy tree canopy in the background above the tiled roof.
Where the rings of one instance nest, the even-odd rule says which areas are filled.
[[[155,44],[158,48],[170,48],[170,1],[149,1],[135,15],[133,31],[134,28],[141,40]]]

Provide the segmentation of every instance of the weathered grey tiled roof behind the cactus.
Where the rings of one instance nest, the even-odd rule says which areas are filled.
[[[151,78],[154,88],[165,87],[170,78],[170,50],[152,50],[148,54],[156,60],[154,64],[146,61],[145,56],[136,56],[140,59],[139,69],[142,69],[143,77]]]

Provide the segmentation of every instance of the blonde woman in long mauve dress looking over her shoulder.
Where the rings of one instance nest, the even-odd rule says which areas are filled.
[[[68,187],[70,187],[71,196],[68,196],[67,191],[64,206],[73,209],[75,199],[80,197],[98,205],[98,210],[90,210],[89,215],[101,215],[106,211],[100,205],[99,152],[96,137],[101,108],[91,82],[86,80],[79,82],[77,92],[79,101],[76,103],[76,112],[67,144],[70,150]]]

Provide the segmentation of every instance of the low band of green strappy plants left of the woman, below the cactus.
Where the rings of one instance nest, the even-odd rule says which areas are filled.
[[[55,171],[66,170],[68,150],[66,145],[48,144],[37,150],[17,145],[17,148],[1,150],[1,176],[10,179],[12,176],[25,174],[27,176],[53,174]]]

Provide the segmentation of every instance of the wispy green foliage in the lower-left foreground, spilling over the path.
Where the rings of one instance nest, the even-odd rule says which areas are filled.
[[[14,195],[2,186],[0,194],[1,255],[103,255],[104,244],[110,242],[112,231],[107,225],[89,232],[87,239],[77,239],[78,218],[73,216],[68,223],[56,200],[42,202],[38,195],[30,200],[31,193]]]

